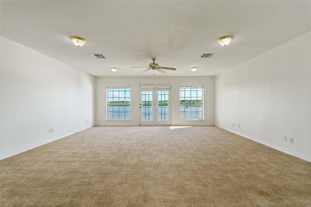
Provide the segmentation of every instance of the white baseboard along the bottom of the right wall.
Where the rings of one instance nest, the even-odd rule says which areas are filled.
[[[232,132],[232,133],[235,133],[235,134],[240,135],[240,136],[242,136],[242,137],[245,137],[245,138],[247,138],[247,139],[253,140],[253,141],[257,142],[257,143],[261,143],[261,144],[263,144],[263,145],[269,146],[269,147],[271,147],[271,148],[273,148],[273,149],[276,149],[276,150],[278,150],[278,151],[284,152],[284,153],[286,153],[286,154],[288,154],[288,155],[292,155],[292,156],[294,156],[294,157],[296,157],[296,158],[300,158],[300,159],[306,160],[306,161],[308,161],[308,162],[311,162],[311,158],[308,158],[308,157],[306,157],[306,156],[297,154],[297,153],[292,152],[292,151],[289,151],[289,150],[287,150],[287,149],[283,149],[283,148],[281,148],[281,147],[278,147],[278,146],[273,145],[273,144],[270,144],[270,143],[263,142],[263,141],[261,141],[261,140],[259,140],[259,139],[256,139],[256,138],[254,138],[254,137],[250,137],[250,136],[248,136],[248,135],[246,135],[246,134],[242,134],[242,133],[240,133],[240,132],[231,130],[231,129],[226,128],[226,127],[222,127],[222,126],[219,126],[219,125],[216,125],[216,124],[215,124],[215,126],[216,126],[216,127],[223,128],[223,129],[225,129],[225,130],[227,130],[227,131],[230,131],[230,132]]]

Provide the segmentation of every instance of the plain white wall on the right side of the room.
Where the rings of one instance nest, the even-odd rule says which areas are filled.
[[[311,159],[311,32],[216,76],[215,123]]]

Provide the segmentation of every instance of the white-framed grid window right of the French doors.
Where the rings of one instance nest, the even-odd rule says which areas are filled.
[[[203,85],[182,85],[179,88],[179,118],[203,119]]]

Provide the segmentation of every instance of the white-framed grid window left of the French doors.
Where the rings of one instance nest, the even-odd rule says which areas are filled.
[[[107,86],[107,119],[130,120],[131,88],[130,85]]]

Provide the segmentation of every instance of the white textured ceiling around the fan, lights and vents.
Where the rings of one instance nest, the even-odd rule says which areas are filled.
[[[1,0],[0,6],[2,36],[95,76],[152,76],[131,66],[147,66],[153,57],[177,68],[156,76],[213,76],[311,30],[311,1]],[[86,45],[74,46],[72,35]],[[234,36],[227,47],[216,42],[223,35]],[[217,54],[199,58],[209,52]],[[120,69],[114,74],[109,67]]]

